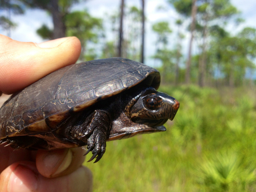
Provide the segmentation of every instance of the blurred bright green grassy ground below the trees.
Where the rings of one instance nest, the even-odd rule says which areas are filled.
[[[181,103],[174,121],[166,132],[108,142],[98,163],[85,162],[94,191],[255,191],[256,93],[196,86],[160,91]]]

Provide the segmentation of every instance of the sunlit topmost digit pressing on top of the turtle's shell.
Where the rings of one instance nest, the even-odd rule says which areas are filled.
[[[0,35],[0,90],[11,94],[76,62],[81,45],[76,37],[35,44]]]

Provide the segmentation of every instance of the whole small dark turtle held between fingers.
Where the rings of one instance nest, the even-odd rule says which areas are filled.
[[[87,145],[99,161],[106,141],[166,131],[179,102],[156,90],[160,73],[125,58],[63,67],[13,94],[0,109],[0,142],[14,150]]]

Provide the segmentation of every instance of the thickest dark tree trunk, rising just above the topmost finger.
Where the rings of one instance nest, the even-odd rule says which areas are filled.
[[[61,38],[66,36],[66,26],[63,21],[63,15],[59,11],[58,0],[50,1],[51,14],[53,18],[53,39]]]

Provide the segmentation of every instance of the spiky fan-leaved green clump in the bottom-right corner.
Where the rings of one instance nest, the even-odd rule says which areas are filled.
[[[201,184],[207,191],[236,191],[237,186],[245,190],[256,177],[253,169],[242,165],[243,162],[234,153],[218,153],[206,158],[199,165]]]

